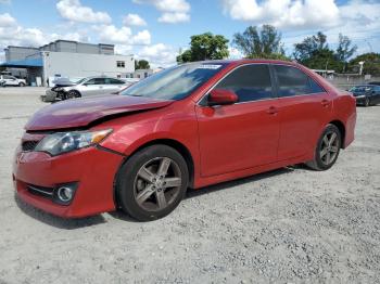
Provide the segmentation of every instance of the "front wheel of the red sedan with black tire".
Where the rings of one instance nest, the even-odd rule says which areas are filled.
[[[170,160],[164,178],[159,173],[162,165],[161,159]],[[172,167],[175,169],[172,169]],[[147,180],[141,178],[142,176],[140,176],[140,172],[145,172],[144,170],[148,168],[149,173],[152,173],[155,178]],[[179,181],[177,180],[177,182],[179,182],[178,186],[168,186],[160,190],[160,186],[163,186],[157,185],[160,177],[161,182],[163,182],[168,179],[176,179],[176,175],[180,178]],[[149,175],[148,177],[153,176]],[[166,145],[148,146],[134,154],[127,163],[121,167],[115,189],[117,204],[123,211],[139,221],[156,220],[167,216],[178,206],[186,194],[188,183],[188,166],[183,157],[176,150]],[[165,185],[165,182],[162,184]],[[139,189],[139,186],[141,189]],[[145,192],[148,193],[144,194]],[[165,206],[160,204],[159,194],[160,196],[164,196]],[[149,197],[145,199],[142,198],[143,201],[141,202],[141,195]]]

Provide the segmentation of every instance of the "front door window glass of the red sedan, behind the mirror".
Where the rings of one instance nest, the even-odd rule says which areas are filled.
[[[251,64],[238,67],[227,75],[215,89],[233,91],[239,102],[250,102],[273,98],[269,67]]]

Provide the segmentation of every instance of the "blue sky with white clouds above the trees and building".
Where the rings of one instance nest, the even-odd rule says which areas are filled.
[[[192,35],[231,41],[263,24],[281,31],[287,54],[319,30],[332,49],[342,33],[358,47],[356,55],[380,52],[380,0],[0,0],[0,61],[8,46],[68,39],[113,43],[118,54],[167,67]],[[230,57],[240,57],[229,44]]]

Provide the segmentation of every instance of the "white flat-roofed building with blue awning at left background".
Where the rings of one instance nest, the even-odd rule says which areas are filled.
[[[83,78],[105,75],[125,78],[135,72],[132,55],[114,54],[113,44],[56,40],[40,48],[8,47],[0,66],[26,69],[31,85],[47,85],[56,77]]]

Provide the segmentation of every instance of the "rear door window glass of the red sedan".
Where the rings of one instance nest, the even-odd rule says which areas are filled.
[[[325,90],[299,68],[275,65],[278,81],[278,96],[320,93]]]

